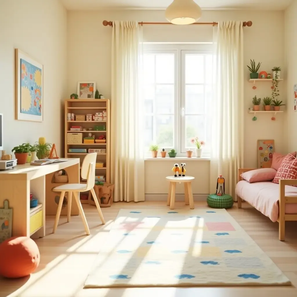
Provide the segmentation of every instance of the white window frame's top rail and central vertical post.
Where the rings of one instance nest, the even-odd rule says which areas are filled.
[[[183,148],[185,144],[185,74],[184,71],[181,73],[182,58],[185,58],[185,53],[201,51],[200,53],[212,53],[213,44],[211,42],[198,42],[198,43],[168,43],[168,42],[144,42],[143,49],[144,53],[175,53],[175,102],[174,102],[174,133],[173,133],[173,143],[174,148],[177,152],[177,157],[186,156],[186,148]],[[183,54],[182,54],[182,51]],[[182,55],[184,57],[182,57]],[[185,68],[184,68],[185,69]],[[155,129],[155,124],[153,129]],[[182,135],[181,131],[184,131]],[[160,148],[162,149],[162,148]],[[164,148],[166,150],[170,148]],[[203,154],[204,155],[204,154]],[[206,154],[207,156],[208,154]],[[150,153],[147,153],[147,157]]]

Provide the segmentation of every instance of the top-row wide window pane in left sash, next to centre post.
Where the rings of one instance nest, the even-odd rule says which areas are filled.
[[[156,55],[156,83],[174,83],[174,55]]]

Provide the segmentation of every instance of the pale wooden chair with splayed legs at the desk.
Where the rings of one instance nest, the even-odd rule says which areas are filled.
[[[86,192],[86,191],[90,190],[93,195],[94,201],[96,203],[101,222],[102,222],[102,224],[105,224],[103,214],[101,212],[101,209],[100,209],[100,206],[99,206],[99,203],[98,203],[95,191],[94,191],[96,157],[97,157],[97,153],[92,153],[92,154],[87,154],[86,157],[83,159],[83,164],[81,165],[80,175],[81,175],[81,178],[87,180],[86,184],[64,184],[64,185],[61,185],[61,186],[53,189],[53,191],[61,192],[58,209],[57,209],[57,213],[56,213],[56,219],[55,219],[54,228],[53,228],[53,233],[55,233],[57,230],[65,192],[68,192],[67,222],[70,222],[71,202],[72,202],[72,193],[73,193],[75,201],[78,205],[79,214],[81,216],[81,219],[83,220],[83,225],[85,227],[86,233],[87,233],[87,235],[90,235],[89,226],[88,226],[85,214],[83,212],[83,207],[81,206],[80,198],[79,198],[79,192]]]

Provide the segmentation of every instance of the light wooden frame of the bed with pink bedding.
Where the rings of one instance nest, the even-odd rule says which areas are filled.
[[[242,180],[240,176],[241,173],[255,169],[259,168],[238,168],[237,182]],[[281,179],[279,181],[279,217],[277,219],[277,222],[279,222],[279,240],[281,241],[285,240],[285,222],[297,221],[297,214],[285,214],[286,203],[297,203],[297,196],[285,196],[286,185],[297,186],[297,179]],[[243,199],[241,197],[237,196],[238,208],[241,208],[242,200]]]

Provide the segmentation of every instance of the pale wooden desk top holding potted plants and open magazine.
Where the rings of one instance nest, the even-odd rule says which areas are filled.
[[[64,169],[66,167],[80,164],[79,158],[67,158],[68,161],[46,164],[46,165],[30,165],[26,163],[24,165],[16,165],[13,169],[0,170],[0,180],[1,179],[14,179],[14,176],[20,175],[23,176],[24,179],[34,179],[40,176],[47,175],[49,173],[53,173],[55,171]]]

